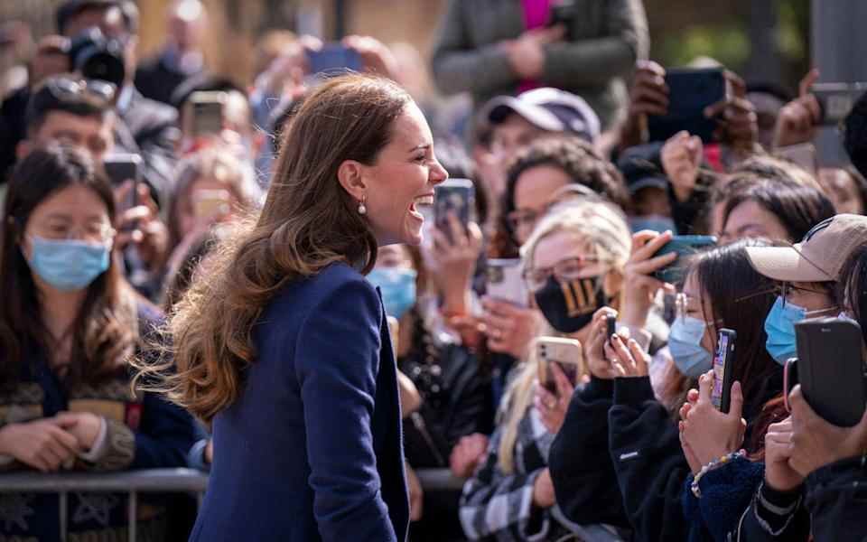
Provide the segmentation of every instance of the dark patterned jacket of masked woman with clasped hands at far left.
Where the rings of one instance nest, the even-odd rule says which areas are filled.
[[[159,314],[140,307],[139,327],[145,337]],[[153,335],[150,335],[153,340]],[[23,368],[17,386],[0,393],[0,426],[55,416],[61,411],[93,412],[106,421],[106,453],[96,463],[78,460],[75,469],[90,472],[186,466],[193,444],[192,418],[182,408],[162,397],[132,395],[128,375],[106,382],[69,388],[46,361],[44,352],[25,350],[33,360]],[[130,371],[131,372],[131,371]],[[7,461],[11,458],[7,458]],[[6,470],[24,469],[21,463],[6,463]],[[158,507],[156,519],[139,521],[142,539],[164,537],[165,498],[139,497],[139,513]],[[69,496],[70,539],[120,539],[126,537],[126,494],[72,492]],[[153,514],[150,514],[153,515]],[[0,539],[61,540],[58,498],[52,494],[0,494]]]

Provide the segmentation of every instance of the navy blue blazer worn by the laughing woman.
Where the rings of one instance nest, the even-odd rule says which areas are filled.
[[[406,540],[397,369],[377,290],[328,266],[286,285],[253,341],[240,397],[214,418],[191,541]]]

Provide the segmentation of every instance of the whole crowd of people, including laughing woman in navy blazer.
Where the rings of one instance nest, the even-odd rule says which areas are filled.
[[[154,542],[867,537],[867,414],[833,425],[787,369],[808,318],[867,340],[867,95],[850,164],[796,164],[816,70],[797,96],[724,70],[713,135],[654,140],[640,0],[452,0],[429,67],[350,36],[336,77],[273,32],[251,81],[207,70],[207,16],[173,1],[141,62],[131,0],[61,2],[31,47],[0,26],[0,470],[212,472],[195,526],[190,497],[139,498]],[[434,218],[448,177],[466,217]],[[684,235],[710,240],[660,252]],[[0,542],[61,540],[61,502],[0,492]],[[127,504],[73,493],[67,539],[126,537]]]

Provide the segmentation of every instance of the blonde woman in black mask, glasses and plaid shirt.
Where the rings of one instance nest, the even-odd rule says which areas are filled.
[[[542,334],[583,342],[593,313],[620,304],[629,225],[601,198],[567,201],[538,223],[522,256],[527,287],[545,316]],[[585,375],[570,380],[552,370],[555,393],[539,385],[533,351],[512,371],[487,459],[463,489],[461,524],[473,540],[558,540],[570,532],[615,539],[600,525],[571,524],[556,506],[548,450]]]

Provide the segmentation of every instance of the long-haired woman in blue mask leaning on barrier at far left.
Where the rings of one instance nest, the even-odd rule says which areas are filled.
[[[120,275],[112,257],[114,219],[111,187],[88,155],[39,148],[13,174],[0,252],[5,470],[107,472],[185,463],[194,440],[191,417],[130,389],[127,361],[144,355],[160,313]],[[162,539],[164,506],[142,504],[141,539]],[[52,494],[2,494],[0,534],[59,540],[58,506]],[[123,494],[72,493],[70,537],[126,537],[126,512]]]

